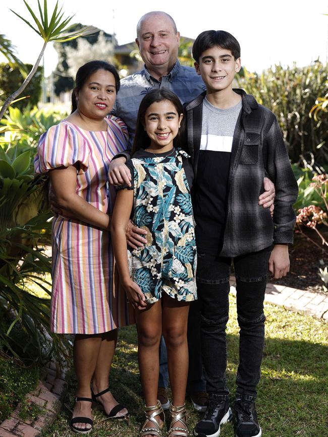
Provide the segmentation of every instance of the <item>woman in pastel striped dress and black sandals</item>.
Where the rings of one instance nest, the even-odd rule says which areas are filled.
[[[127,146],[122,120],[105,118],[119,87],[112,65],[95,60],[80,67],[72,113],[41,136],[34,162],[37,173],[48,173],[63,211],[52,224],[51,330],[75,334],[78,385],[71,426],[78,433],[92,428],[92,400],[109,417],[127,415],[108,389],[117,327],[133,320],[114,271],[108,232],[115,199],[108,165]]]

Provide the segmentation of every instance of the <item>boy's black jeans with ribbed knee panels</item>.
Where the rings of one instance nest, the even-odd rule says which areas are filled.
[[[256,397],[264,346],[263,301],[272,246],[233,259],[240,327],[237,394]],[[198,253],[202,356],[207,393],[229,395],[226,385],[229,275],[232,259]]]

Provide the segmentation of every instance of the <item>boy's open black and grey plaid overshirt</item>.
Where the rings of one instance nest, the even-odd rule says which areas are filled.
[[[228,202],[224,244],[220,256],[236,257],[257,252],[275,244],[293,242],[298,186],[288,158],[276,116],[243,90],[231,151]],[[191,155],[195,182],[202,131],[202,107],[205,93],[185,104],[186,151]],[[263,193],[263,178],[275,184],[273,218],[268,208],[258,205]],[[197,223],[196,223],[197,224]]]

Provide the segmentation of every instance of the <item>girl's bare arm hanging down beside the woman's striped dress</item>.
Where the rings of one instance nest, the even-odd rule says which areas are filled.
[[[121,284],[134,308],[147,306],[140,287],[132,281],[128,267],[126,228],[133,206],[133,190],[120,190],[117,193],[111,222],[114,255],[119,270]]]

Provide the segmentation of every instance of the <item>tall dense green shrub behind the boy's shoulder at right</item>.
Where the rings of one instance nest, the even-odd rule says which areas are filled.
[[[276,65],[261,75],[245,70],[244,78],[237,77],[239,87],[276,114],[292,162],[311,154],[320,164],[328,161],[328,118],[309,117],[316,99],[327,92],[327,72],[328,65],[316,61],[304,68]]]

